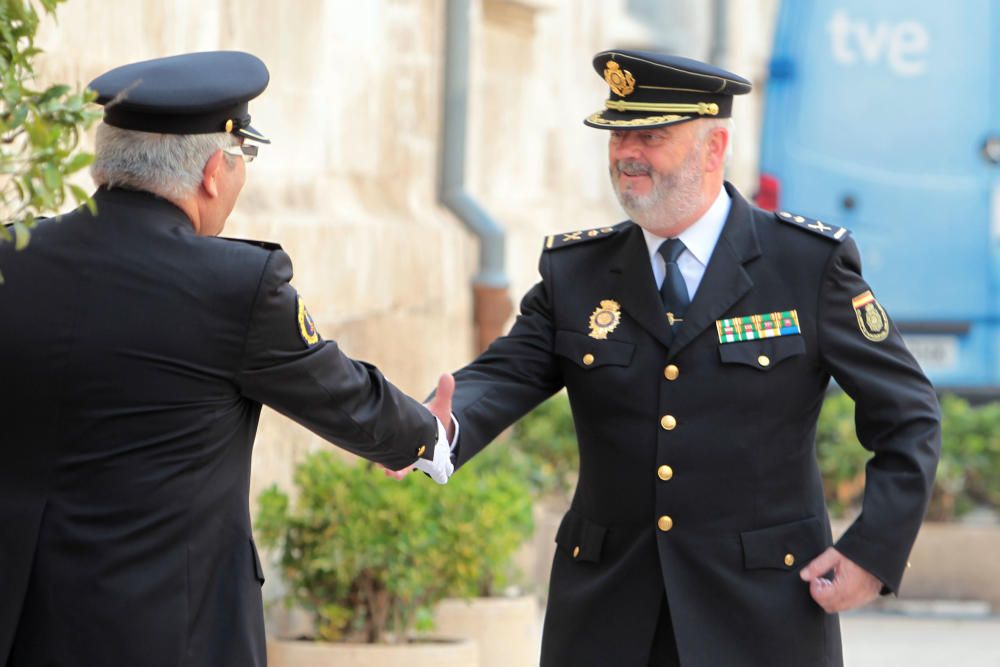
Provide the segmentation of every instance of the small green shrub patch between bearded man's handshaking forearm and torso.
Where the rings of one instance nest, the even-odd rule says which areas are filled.
[[[495,447],[495,446],[494,446]],[[536,495],[568,496],[576,487],[580,451],[569,398],[560,392],[525,415],[511,429],[510,442]]]

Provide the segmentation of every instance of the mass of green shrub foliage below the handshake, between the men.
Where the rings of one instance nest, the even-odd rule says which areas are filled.
[[[534,527],[529,489],[502,454],[484,452],[439,487],[321,451],[298,466],[294,503],[264,491],[257,534],[280,552],[289,601],[315,612],[316,637],[404,640],[429,629],[441,599],[505,585]]]

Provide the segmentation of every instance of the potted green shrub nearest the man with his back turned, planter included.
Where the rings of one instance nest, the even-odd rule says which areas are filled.
[[[296,469],[295,497],[259,498],[256,531],[278,554],[288,602],[312,614],[309,640],[268,643],[272,667],[474,667],[474,642],[420,641],[448,594],[455,541],[442,488],[415,475],[397,482],[329,451]]]

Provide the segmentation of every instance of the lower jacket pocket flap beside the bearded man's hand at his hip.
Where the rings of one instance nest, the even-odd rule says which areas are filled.
[[[823,524],[816,517],[740,533],[743,567],[748,570],[805,567],[826,547]]]

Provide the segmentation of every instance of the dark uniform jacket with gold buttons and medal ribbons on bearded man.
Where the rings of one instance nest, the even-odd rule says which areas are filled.
[[[645,666],[664,593],[683,667],[842,663],[837,616],[799,579],[832,542],[814,451],[831,377],[873,453],[837,548],[899,587],[940,448],[934,391],[895,328],[859,318],[869,286],[849,236],[726,187],[729,217],[673,336],[627,222],[556,237],[509,335],[456,375],[459,465],[569,394],[580,471],[556,537],[545,667]],[[600,340],[602,301],[619,321]],[[720,343],[719,320],[790,310],[798,335]]]

